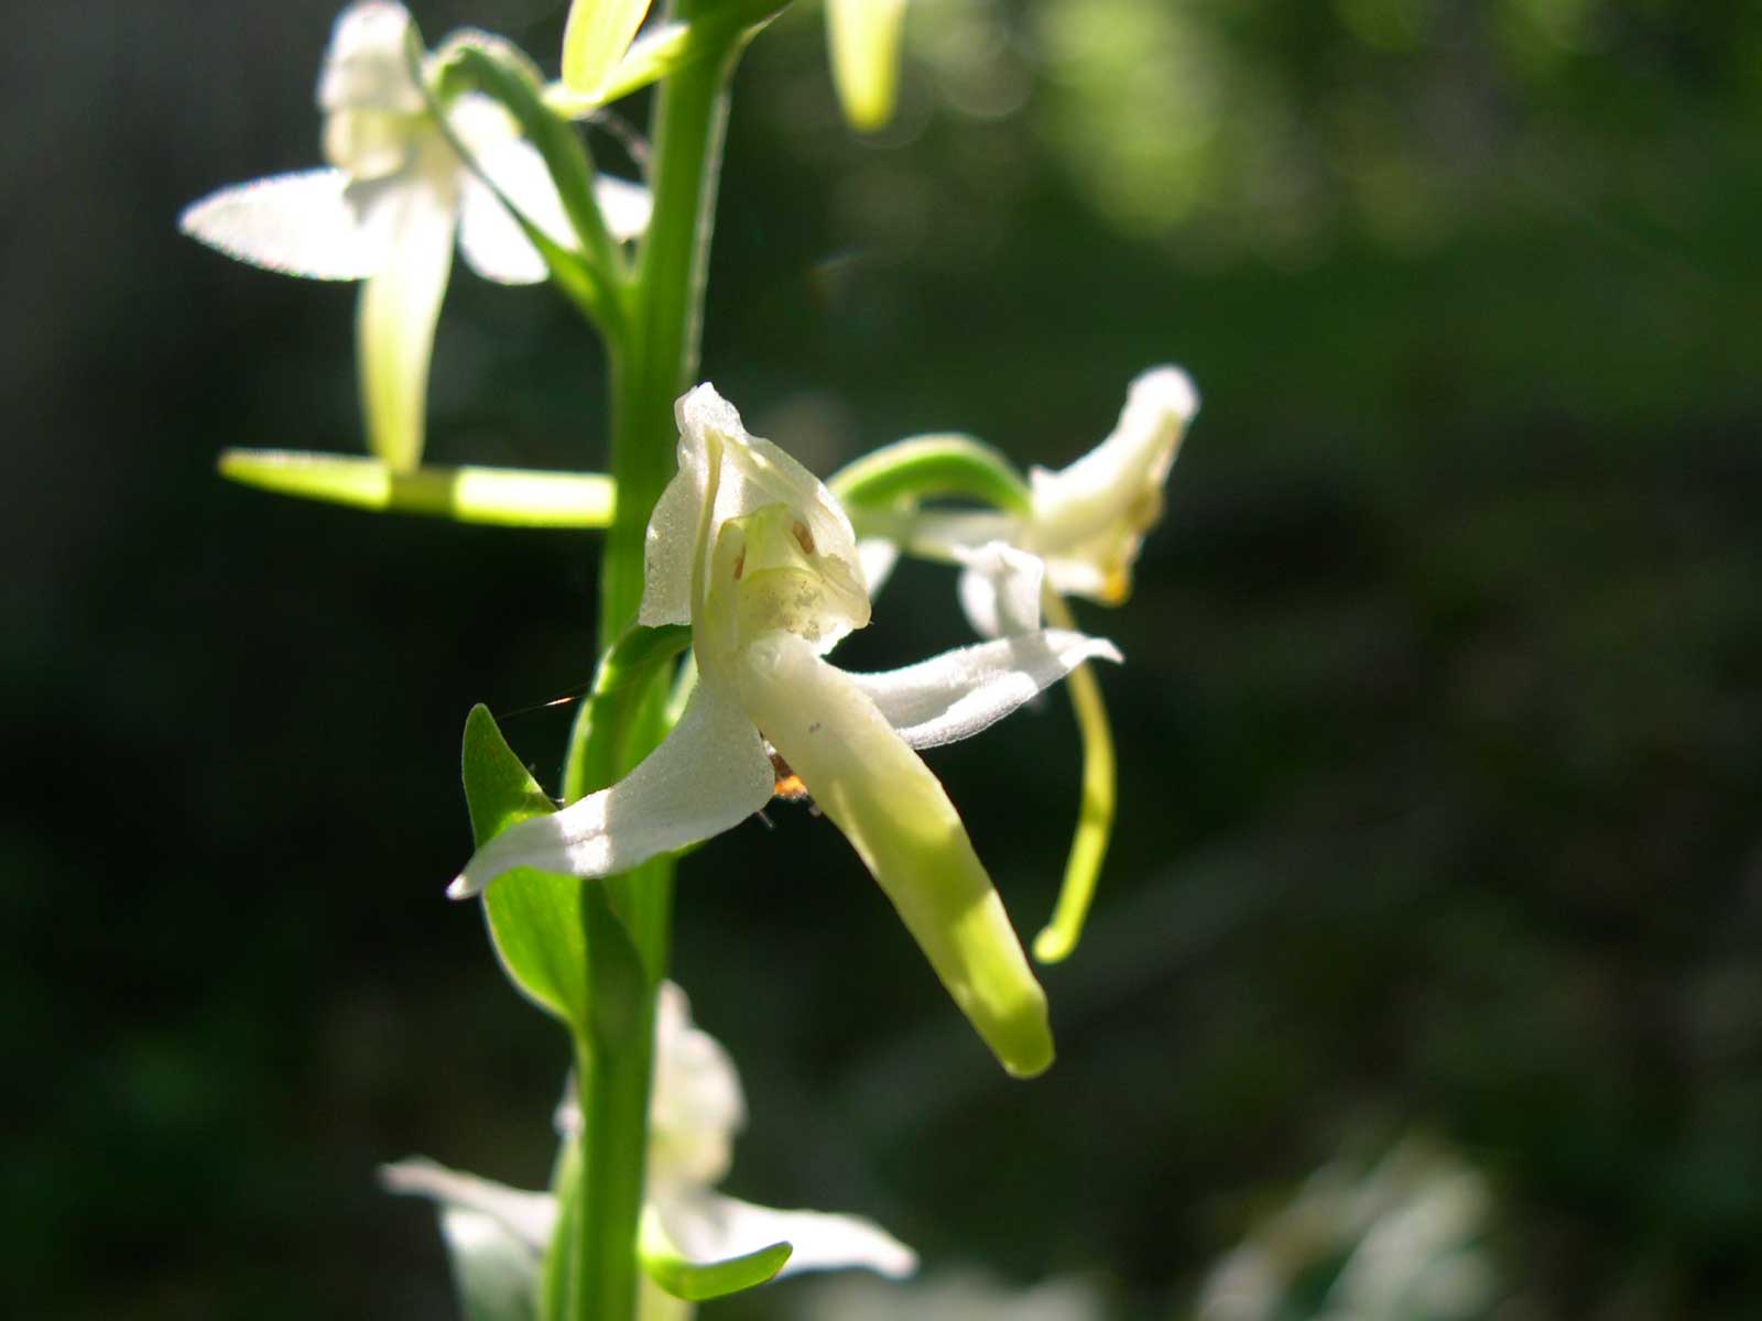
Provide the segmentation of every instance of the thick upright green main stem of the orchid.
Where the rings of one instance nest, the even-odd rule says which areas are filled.
[[[700,7],[703,0],[678,0],[675,16],[691,19]],[[685,393],[698,370],[728,79],[742,44],[742,33],[731,33],[715,58],[689,63],[664,79],[655,99],[654,218],[626,289],[626,333],[610,351],[611,476],[618,498],[601,562],[603,646],[636,618],[648,514],[677,469],[673,400]],[[622,696],[633,708],[633,720],[578,720],[564,764],[566,800],[601,787],[592,780],[608,771],[622,775],[661,742],[666,733],[664,696],[663,671],[654,682],[633,685]],[[596,736],[610,736],[620,724],[629,731],[626,747],[611,757],[592,756]],[[585,1131],[580,1159],[583,1214],[573,1226],[573,1321],[626,1321],[636,1309],[654,1000],[670,955],[673,863],[655,860],[599,884],[606,886],[613,911],[629,930],[647,970],[647,985],[634,1032],[618,1050],[606,1050],[599,1039],[578,1043]],[[597,993],[599,974],[599,962],[590,958],[590,993]],[[559,1245],[559,1251],[567,1247]]]

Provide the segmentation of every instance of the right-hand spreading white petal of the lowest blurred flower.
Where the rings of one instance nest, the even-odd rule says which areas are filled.
[[[788,1242],[795,1251],[782,1275],[867,1268],[899,1279],[918,1268],[916,1252],[858,1215],[772,1210],[717,1192],[657,1201],[655,1210],[673,1245],[700,1263],[726,1261]]]

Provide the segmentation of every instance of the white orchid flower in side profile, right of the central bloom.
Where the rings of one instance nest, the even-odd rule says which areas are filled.
[[[1131,595],[1131,567],[1163,516],[1163,484],[1198,393],[1177,366],[1145,372],[1126,393],[1114,432],[1066,469],[1029,469],[1031,509],[1013,513],[906,513],[897,535],[863,539],[870,592],[893,567],[900,546],[916,555],[969,562],[990,542],[1004,542],[1045,562],[1045,581],[1059,595],[1117,606]],[[967,565],[960,601],[985,636],[1008,632],[992,601],[996,574]]]

